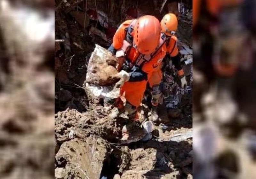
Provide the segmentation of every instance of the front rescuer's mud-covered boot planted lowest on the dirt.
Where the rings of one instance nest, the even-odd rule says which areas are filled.
[[[124,125],[122,129],[123,137],[121,139],[122,144],[129,144],[141,140],[148,133],[140,126],[140,122],[129,121],[128,124]]]

